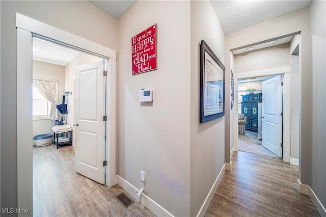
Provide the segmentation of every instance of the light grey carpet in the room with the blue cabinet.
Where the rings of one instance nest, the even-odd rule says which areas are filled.
[[[257,132],[252,130],[246,130],[246,134],[239,134],[238,151],[279,158],[261,145],[261,141],[257,139]]]

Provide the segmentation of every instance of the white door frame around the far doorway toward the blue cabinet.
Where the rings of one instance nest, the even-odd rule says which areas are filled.
[[[290,159],[290,67],[279,67],[267,70],[258,70],[251,72],[244,72],[233,74],[234,76],[234,89],[236,90],[236,96],[238,96],[238,79],[259,77],[267,75],[283,74],[283,160],[289,162]],[[234,97],[234,103],[238,103],[238,98]],[[234,114],[234,151],[238,151],[238,114]]]

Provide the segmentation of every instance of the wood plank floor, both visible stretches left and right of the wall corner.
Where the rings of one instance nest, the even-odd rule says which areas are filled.
[[[282,159],[235,152],[205,216],[319,216],[297,177]],[[115,198],[121,192],[75,173],[73,147],[33,148],[34,216],[155,216],[137,200],[125,209]]]

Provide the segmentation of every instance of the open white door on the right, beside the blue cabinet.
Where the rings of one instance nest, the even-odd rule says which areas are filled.
[[[281,75],[262,82],[262,146],[282,157]]]

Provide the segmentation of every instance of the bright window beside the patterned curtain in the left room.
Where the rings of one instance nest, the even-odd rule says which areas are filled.
[[[33,84],[33,119],[48,119],[51,103],[38,91]]]

